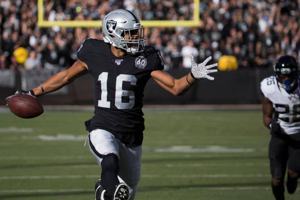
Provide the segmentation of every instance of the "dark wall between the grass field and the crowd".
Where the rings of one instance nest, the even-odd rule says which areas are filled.
[[[180,78],[188,71],[168,71],[175,78]],[[272,75],[272,69],[242,69],[219,71],[212,74],[214,81],[198,80],[184,95],[174,96],[162,89],[150,79],[144,91],[144,104],[258,104],[261,103],[260,81]],[[0,88],[0,103],[5,104],[5,97],[16,88]],[[69,85],[68,95],[44,95],[39,97],[42,104],[93,104],[93,78],[85,75]]]

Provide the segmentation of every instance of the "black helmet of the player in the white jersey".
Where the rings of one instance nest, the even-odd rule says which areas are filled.
[[[284,55],[278,58],[274,65],[276,80],[279,86],[290,92],[297,85],[299,78],[298,60],[290,55]]]

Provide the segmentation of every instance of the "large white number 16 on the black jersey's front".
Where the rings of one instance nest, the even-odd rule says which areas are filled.
[[[98,100],[98,106],[103,108],[110,108],[111,102],[107,101],[107,78],[108,72],[102,72],[98,81],[101,81],[101,100]],[[134,106],[134,91],[133,90],[123,90],[122,85],[123,81],[130,82],[131,85],[136,85],[137,78],[133,75],[120,74],[117,76],[116,80],[116,94],[115,94],[115,103],[114,105],[118,109],[130,109]],[[122,96],[129,96],[129,102],[123,103]]]

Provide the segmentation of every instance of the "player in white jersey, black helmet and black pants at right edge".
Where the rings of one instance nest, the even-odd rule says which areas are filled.
[[[275,76],[261,82],[263,123],[271,130],[269,159],[272,191],[276,200],[284,199],[284,175],[287,191],[293,194],[300,177],[300,82],[298,60],[290,55],[278,58]]]

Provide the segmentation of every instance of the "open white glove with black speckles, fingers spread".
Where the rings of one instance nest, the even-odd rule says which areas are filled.
[[[192,70],[191,70],[191,75],[193,75],[192,77],[198,79],[198,78],[207,78],[208,80],[213,81],[215,78],[208,76],[207,74],[209,73],[215,73],[218,72],[218,70],[208,70],[210,68],[216,67],[218,66],[218,63],[212,64],[212,65],[208,65],[205,66],[206,63],[208,63],[208,61],[210,61],[212,59],[212,56],[209,56],[208,58],[206,58],[204,60],[204,62],[197,64],[195,59],[194,59],[194,55],[190,55],[191,61],[192,61]]]

